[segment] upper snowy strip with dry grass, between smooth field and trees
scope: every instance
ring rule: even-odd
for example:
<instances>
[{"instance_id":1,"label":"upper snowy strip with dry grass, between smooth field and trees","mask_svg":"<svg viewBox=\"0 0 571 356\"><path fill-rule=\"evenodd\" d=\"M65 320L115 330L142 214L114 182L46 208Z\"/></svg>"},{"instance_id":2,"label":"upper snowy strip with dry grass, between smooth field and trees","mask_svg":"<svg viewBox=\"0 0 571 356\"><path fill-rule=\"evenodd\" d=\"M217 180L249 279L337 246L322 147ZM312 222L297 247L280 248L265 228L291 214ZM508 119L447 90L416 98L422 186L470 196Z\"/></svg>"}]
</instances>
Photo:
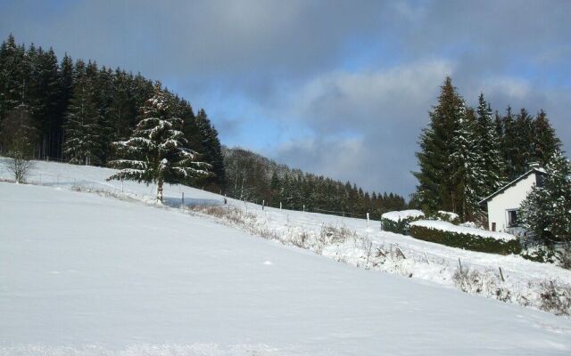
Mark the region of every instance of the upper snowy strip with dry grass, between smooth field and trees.
<instances>
[{"instance_id":1,"label":"upper snowy strip with dry grass, between smooth field and trees","mask_svg":"<svg viewBox=\"0 0 571 356\"><path fill-rule=\"evenodd\" d=\"M9 178L5 158L0 158L0 178ZM119 197L153 202L153 185L137 182L106 182L105 179L115 170L94 166L73 166L53 162L35 162L29 174L29 181L62 189L81 189L109 192ZM186 206L223 206L224 197L203 190L180 185L165 186L165 204L180 206L182 196ZM337 261L350 263L361 268L386 271L412 279L425 279L447 287L460 287L468 293L477 293L510 303L550 310L542 305L543 285L554 281L556 285L571 286L571 271L563 270L549 263L534 263L519 256L484 254L413 239L408 236L380 231L380 223L362 219L343 218L336 215L303 213L265 207L250 202L244 203L228 198L228 206L244 213L244 222L225 223L238 226L244 231L257 235L269 234L285 245L300 246L300 237L318 237L324 227L343 227L355 231L358 239L348 240L327 246L311 246L320 255ZM225 208L228 206L224 206ZM245 214L247 212L247 214ZM220 221L220 219L217 219ZM388 255L398 248L405 259L376 257L377 250ZM460 261L460 262L459 262ZM478 284L458 285L454 274L459 270L478 271ZM504 280L501 279L500 268ZM567 288L567 294L571 287ZM564 295L564 301L571 295ZM560 311L559 311L560 312ZM567 312L571 312L567 309Z\"/></svg>"}]
</instances>

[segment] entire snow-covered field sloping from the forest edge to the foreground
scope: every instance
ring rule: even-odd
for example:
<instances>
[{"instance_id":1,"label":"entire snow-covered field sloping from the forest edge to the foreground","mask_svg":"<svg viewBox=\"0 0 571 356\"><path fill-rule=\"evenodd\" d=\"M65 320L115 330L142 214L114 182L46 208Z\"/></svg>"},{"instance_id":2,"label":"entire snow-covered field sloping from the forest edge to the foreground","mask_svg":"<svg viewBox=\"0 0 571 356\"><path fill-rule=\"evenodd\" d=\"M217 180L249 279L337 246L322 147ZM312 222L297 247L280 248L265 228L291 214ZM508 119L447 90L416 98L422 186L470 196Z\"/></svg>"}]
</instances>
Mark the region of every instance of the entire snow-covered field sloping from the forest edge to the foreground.
<instances>
[{"instance_id":1,"label":"entire snow-covered field sloping from the forest edge to the foreground","mask_svg":"<svg viewBox=\"0 0 571 356\"><path fill-rule=\"evenodd\" d=\"M112 172L37 162L29 178L45 186L0 183L0 355L571 352L571 320L441 286L453 285L458 258L501 267L505 283L524 290L535 279L569 282L568 271L382 232L377 222L228 199L276 236L356 231L360 239L321 251L346 262L337 263L202 214L69 191L152 200L153 187L105 182ZM167 204L183 192L186 205L222 205L180 186L166 187ZM362 255L367 240L406 259L374 266Z\"/></svg>"}]
</instances>

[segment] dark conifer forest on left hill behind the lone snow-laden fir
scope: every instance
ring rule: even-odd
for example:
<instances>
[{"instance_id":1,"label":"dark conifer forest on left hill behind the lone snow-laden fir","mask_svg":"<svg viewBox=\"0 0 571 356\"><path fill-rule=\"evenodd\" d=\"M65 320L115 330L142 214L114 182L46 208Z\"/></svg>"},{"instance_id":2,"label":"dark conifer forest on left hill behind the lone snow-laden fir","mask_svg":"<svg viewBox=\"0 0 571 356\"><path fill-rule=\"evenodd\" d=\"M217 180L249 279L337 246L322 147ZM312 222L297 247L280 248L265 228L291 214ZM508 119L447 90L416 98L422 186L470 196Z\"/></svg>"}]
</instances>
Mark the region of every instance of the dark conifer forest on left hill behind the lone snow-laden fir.
<instances>
[{"instance_id":1,"label":"dark conifer forest on left hill behind the lone snow-laden fir","mask_svg":"<svg viewBox=\"0 0 571 356\"><path fill-rule=\"evenodd\" d=\"M194 114L188 101L163 90L170 115L184 122L188 149L200 152L212 166L215 175L201 184L222 189L218 133L205 110ZM107 165L116 158L111 143L129 137L153 93L153 81L140 74L99 67L95 61L72 61L67 54L58 61L52 48L26 48L12 35L0 46L0 124L13 110L24 108L37 131L32 142L37 159Z\"/></svg>"}]
</instances>

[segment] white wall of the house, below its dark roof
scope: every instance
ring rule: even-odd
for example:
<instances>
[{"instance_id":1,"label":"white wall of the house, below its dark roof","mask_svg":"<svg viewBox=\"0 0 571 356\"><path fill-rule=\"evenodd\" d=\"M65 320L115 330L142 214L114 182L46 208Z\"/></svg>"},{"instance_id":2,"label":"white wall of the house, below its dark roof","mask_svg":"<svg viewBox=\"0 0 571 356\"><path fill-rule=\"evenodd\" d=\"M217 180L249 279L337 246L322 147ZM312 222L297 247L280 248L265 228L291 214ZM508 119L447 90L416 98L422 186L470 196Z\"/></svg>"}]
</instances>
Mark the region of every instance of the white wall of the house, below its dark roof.
<instances>
[{"instance_id":1,"label":"white wall of the house, below its dark roof","mask_svg":"<svg viewBox=\"0 0 571 356\"><path fill-rule=\"evenodd\" d=\"M529 174L488 201L488 229L496 223L496 231L505 232L508 227L508 210L519 209L527 194L537 182L537 174Z\"/></svg>"}]
</instances>

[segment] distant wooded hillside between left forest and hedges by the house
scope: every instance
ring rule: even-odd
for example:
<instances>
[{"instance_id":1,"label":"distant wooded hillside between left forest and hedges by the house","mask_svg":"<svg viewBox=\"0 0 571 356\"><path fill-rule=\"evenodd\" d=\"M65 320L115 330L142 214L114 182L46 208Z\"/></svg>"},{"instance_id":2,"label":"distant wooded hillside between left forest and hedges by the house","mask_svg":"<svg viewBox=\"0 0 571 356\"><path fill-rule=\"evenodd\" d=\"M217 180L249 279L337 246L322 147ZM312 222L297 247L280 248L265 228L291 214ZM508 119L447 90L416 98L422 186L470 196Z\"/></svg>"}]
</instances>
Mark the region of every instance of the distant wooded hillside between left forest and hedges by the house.
<instances>
[{"instance_id":1,"label":"distant wooded hillside between left forest and hedges by the house","mask_svg":"<svg viewBox=\"0 0 571 356\"><path fill-rule=\"evenodd\" d=\"M393 193L368 193L351 182L304 173L242 149L224 149L228 196L286 209L364 217L407 207Z\"/></svg>"}]
</instances>

